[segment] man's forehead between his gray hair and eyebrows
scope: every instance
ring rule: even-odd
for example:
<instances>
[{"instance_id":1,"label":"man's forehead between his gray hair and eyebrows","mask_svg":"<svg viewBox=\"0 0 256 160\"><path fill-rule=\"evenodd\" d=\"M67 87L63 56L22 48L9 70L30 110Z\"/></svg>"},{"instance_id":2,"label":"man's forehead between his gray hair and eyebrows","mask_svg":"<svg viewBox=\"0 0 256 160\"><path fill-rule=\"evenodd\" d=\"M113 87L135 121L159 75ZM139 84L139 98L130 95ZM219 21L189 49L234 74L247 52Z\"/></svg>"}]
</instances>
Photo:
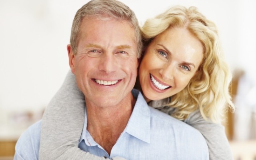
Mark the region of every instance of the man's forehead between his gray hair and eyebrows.
<instances>
[{"instance_id":1,"label":"man's forehead between his gray hair and eyebrows","mask_svg":"<svg viewBox=\"0 0 256 160\"><path fill-rule=\"evenodd\" d=\"M137 49L135 30L127 20L99 20L89 16L81 23L79 34L86 47L112 45L119 49Z\"/></svg>"}]
</instances>

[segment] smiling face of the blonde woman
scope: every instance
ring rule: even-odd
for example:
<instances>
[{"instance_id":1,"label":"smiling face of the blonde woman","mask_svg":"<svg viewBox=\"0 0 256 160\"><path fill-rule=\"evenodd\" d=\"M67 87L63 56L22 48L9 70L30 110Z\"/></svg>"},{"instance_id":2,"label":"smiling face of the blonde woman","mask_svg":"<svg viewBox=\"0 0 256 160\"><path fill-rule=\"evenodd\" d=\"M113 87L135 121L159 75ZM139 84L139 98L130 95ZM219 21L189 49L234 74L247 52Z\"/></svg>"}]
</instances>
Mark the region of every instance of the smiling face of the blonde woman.
<instances>
[{"instance_id":1,"label":"smiling face of the blonde woman","mask_svg":"<svg viewBox=\"0 0 256 160\"><path fill-rule=\"evenodd\" d=\"M186 28L169 28L146 48L139 70L144 96L170 97L186 87L203 58L201 42Z\"/></svg>"}]
</instances>

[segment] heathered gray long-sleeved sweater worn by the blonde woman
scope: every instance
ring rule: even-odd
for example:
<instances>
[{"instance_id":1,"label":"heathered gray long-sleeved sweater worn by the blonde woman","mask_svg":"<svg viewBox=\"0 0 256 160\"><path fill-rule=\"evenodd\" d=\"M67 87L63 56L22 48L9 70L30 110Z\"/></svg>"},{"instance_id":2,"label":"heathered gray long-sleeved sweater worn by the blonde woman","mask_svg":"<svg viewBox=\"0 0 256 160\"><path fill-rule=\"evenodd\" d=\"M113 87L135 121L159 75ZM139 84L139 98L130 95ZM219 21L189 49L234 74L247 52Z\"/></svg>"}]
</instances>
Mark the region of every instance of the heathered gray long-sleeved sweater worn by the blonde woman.
<instances>
[{"instance_id":1,"label":"heathered gray long-sleeved sweater worn by the blonde woman","mask_svg":"<svg viewBox=\"0 0 256 160\"><path fill-rule=\"evenodd\" d=\"M149 105L166 114L171 114L173 108L162 107L167 102L168 98L152 101ZM84 95L77 88L75 77L69 71L61 88L44 112L40 160L106 160L104 157L94 156L78 148L78 140L84 124L84 103ZM202 133L208 144L210 160L233 159L224 127L221 124L204 120L199 110L190 114L184 122ZM123 158L113 159L122 160Z\"/></svg>"}]
</instances>

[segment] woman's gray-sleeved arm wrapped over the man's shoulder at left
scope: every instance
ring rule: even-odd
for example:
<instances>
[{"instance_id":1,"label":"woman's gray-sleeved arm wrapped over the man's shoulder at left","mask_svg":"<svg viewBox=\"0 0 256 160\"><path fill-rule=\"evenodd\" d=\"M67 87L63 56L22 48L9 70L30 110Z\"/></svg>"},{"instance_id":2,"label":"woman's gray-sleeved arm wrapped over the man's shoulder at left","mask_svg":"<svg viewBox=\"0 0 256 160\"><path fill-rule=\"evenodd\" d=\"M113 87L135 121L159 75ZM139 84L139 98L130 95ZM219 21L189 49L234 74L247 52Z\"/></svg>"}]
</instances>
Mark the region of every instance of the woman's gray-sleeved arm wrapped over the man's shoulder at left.
<instances>
[{"instance_id":1,"label":"woman's gray-sleeved arm wrapped over the man's shoulder at left","mask_svg":"<svg viewBox=\"0 0 256 160\"><path fill-rule=\"evenodd\" d=\"M78 148L84 126L84 106L84 94L69 71L42 118L40 160L106 160Z\"/></svg>"}]
</instances>

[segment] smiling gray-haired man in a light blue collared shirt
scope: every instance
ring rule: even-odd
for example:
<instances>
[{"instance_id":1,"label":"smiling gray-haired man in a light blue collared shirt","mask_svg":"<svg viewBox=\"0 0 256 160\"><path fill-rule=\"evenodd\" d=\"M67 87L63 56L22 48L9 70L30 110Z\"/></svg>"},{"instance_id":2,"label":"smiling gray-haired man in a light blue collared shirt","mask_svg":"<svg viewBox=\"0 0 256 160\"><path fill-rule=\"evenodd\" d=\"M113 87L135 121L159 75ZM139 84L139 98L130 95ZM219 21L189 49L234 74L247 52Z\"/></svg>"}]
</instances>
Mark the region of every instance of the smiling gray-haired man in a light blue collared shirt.
<instances>
[{"instance_id":1,"label":"smiling gray-haired man in a light blue collared shirt","mask_svg":"<svg viewBox=\"0 0 256 160\"><path fill-rule=\"evenodd\" d=\"M76 13L67 49L86 102L79 148L106 158L208 159L198 131L132 90L141 46L136 17L121 2L93 0ZM20 137L14 159L38 159L40 128L41 121Z\"/></svg>"}]
</instances>

